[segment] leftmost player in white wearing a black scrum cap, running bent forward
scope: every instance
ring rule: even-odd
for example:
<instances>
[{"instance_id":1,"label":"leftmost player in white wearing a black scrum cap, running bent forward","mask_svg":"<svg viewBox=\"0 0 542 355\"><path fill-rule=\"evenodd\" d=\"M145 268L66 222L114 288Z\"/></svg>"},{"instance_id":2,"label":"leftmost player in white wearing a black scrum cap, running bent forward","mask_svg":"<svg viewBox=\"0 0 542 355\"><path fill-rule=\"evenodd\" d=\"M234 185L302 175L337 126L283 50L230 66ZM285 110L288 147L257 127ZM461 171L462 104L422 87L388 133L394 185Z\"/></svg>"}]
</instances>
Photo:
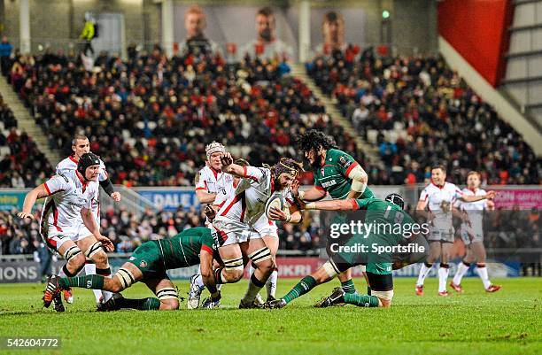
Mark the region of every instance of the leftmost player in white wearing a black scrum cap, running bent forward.
<instances>
[{"instance_id":1,"label":"leftmost player in white wearing a black scrum cap, running bent forward","mask_svg":"<svg viewBox=\"0 0 542 355\"><path fill-rule=\"evenodd\" d=\"M62 267L66 276L79 274L86 258L96 264L100 274L111 274L107 254L102 246L106 251L112 251L113 245L100 234L92 212L92 205L97 203L99 173L100 161L97 155L84 153L77 163L77 170L56 174L28 192L22 212L19 212L20 218L32 218L31 211L36 199L48 197L43 204L40 234L52 251L66 259ZM53 298L47 295L43 297L46 307L52 301ZM64 306L56 311L63 312Z\"/></svg>"}]
</instances>

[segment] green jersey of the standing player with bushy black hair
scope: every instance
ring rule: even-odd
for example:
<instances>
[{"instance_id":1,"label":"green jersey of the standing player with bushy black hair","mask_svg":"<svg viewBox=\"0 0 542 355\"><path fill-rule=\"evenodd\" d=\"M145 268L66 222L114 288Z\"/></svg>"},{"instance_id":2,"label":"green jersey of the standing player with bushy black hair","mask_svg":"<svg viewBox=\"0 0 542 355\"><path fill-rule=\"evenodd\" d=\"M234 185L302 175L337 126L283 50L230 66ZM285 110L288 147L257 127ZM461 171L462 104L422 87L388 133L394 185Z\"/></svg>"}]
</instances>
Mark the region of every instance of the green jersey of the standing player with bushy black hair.
<instances>
[{"instance_id":1,"label":"green jersey of the standing player with bushy black hair","mask_svg":"<svg viewBox=\"0 0 542 355\"><path fill-rule=\"evenodd\" d=\"M352 180L348 179L351 170L358 166L354 158L343 150L330 149L326 152L324 166L314 169L314 186L329 192L335 199L345 199L351 189ZM373 198L375 194L365 189L359 198Z\"/></svg>"}]
</instances>

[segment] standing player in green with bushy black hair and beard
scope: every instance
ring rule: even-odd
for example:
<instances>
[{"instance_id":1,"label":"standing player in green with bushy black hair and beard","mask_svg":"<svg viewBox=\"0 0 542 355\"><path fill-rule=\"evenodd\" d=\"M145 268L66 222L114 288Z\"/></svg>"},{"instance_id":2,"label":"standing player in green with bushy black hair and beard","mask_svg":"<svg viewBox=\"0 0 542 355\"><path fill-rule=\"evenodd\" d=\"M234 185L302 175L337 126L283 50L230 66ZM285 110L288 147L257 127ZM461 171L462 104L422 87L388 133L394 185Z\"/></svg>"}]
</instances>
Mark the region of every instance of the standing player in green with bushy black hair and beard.
<instances>
[{"instance_id":1,"label":"standing player in green with bushy black hair and beard","mask_svg":"<svg viewBox=\"0 0 542 355\"><path fill-rule=\"evenodd\" d=\"M292 194L303 201L318 201L329 193L334 199L372 198L375 194L368 188L368 175L360 164L349 154L337 150L332 137L311 129L298 135L298 148L308 159L314 173L314 187L306 191L292 189ZM328 238L328 252L329 243ZM343 243L345 241L341 241ZM365 266L361 267L366 281ZM352 271L343 270L338 279L346 293L355 293ZM370 290L368 290L370 292Z\"/></svg>"}]
</instances>

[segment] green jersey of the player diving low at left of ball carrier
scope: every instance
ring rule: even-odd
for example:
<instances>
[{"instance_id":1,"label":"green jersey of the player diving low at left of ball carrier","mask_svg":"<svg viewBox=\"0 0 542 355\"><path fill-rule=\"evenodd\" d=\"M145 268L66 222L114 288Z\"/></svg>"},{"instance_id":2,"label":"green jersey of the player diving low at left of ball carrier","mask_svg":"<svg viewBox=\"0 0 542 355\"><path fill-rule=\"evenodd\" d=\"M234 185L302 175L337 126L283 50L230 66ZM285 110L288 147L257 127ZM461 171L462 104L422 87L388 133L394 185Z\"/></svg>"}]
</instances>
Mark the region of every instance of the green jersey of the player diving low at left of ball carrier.
<instances>
[{"instance_id":1,"label":"green jersey of the player diving low at left of ball carrier","mask_svg":"<svg viewBox=\"0 0 542 355\"><path fill-rule=\"evenodd\" d=\"M211 229L205 227L186 229L158 242L167 270L199 264L199 253L207 251L213 255L215 245Z\"/></svg>"}]
</instances>

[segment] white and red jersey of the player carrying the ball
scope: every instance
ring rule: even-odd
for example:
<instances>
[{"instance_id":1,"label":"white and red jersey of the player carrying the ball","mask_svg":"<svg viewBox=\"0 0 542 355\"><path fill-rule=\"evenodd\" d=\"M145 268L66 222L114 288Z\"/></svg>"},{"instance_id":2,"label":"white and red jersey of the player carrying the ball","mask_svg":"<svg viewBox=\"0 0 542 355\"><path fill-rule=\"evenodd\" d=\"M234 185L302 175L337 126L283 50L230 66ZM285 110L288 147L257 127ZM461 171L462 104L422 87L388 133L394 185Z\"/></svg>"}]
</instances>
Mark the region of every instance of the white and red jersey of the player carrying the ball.
<instances>
[{"instance_id":1,"label":"white and red jersey of the player carrying the ball","mask_svg":"<svg viewBox=\"0 0 542 355\"><path fill-rule=\"evenodd\" d=\"M271 171L265 167L244 166L245 178L228 197L215 220L233 220L254 227L265 212L267 199L275 192ZM290 190L283 196L290 198Z\"/></svg>"}]
</instances>

